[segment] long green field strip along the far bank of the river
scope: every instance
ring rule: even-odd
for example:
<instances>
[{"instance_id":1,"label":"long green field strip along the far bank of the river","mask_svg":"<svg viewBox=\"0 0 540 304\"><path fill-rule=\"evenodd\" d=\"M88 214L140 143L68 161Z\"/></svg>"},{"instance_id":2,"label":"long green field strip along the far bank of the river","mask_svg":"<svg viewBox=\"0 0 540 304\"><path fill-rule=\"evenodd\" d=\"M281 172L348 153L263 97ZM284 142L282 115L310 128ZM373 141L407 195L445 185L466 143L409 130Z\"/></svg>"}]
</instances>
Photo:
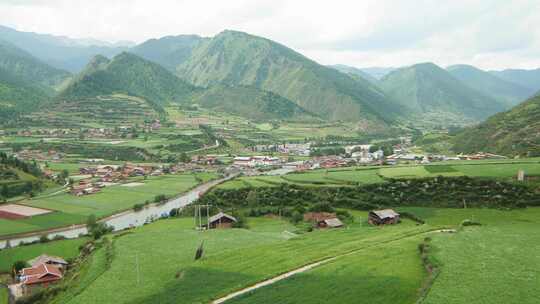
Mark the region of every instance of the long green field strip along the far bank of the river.
<instances>
[{"instance_id":1,"label":"long green field strip along the far bank of the river","mask_svg":"<svg viewBox=\"0 0 540 304\"><path fill-rule=\"evenodd\" d=\"M205 181L216 175L201 173L197 176ZM26 200L23 202L25 205L55 212L20 220L0 219L0 236L83 223L89 215L105 217L130 209L133 205L144 203L146 200L152 201L156 195L174 196L198 184L195 175L192 174L148 177L147 180L138 178L131 182L138 182L141 185L137 187L110 186L96 194L80 197L61 193Z\"/></svg>"}]
</instances>

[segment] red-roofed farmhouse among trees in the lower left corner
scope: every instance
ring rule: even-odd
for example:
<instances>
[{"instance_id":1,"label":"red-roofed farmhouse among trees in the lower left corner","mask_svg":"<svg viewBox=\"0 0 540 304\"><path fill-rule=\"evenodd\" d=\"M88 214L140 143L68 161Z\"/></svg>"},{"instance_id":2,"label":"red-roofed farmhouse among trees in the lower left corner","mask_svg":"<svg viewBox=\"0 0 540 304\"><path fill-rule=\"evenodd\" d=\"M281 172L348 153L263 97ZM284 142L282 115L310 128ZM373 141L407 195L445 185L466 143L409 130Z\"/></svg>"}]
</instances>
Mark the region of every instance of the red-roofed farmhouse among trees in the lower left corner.
<instances>
[{"instance_id":1,"label":"red-roofed farmhouse among trees in the lower left corner","mask_svg":"<svg viewBox=\"0 0 540 304\"><path fill-rule=\"evenodd\" d=\"M62 270L55 265L41 263L35 267L23 268L19 275L24 295L35 290L47 288L63 278Z\"/></svg>"}]
</instances>

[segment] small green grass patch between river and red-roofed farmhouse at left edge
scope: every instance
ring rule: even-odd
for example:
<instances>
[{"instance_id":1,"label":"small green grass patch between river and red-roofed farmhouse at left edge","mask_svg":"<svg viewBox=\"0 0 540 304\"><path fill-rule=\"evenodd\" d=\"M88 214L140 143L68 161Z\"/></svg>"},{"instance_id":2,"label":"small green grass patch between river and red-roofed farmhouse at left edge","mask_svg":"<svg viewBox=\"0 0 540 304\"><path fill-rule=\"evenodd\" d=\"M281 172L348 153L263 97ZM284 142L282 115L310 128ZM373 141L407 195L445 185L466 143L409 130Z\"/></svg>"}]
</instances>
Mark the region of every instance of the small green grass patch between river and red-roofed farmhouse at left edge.
<instances>
[{"instance_id":1,"label":"small green grass patch between river and red-roofed farmhouse at left edge","mask_svg":"<svg viewBox=\"0 0 540 304\"><path fill-rule=\"evenodd\" d=\"M64 259L74 258L79 254L79 246L86 241L88 238L78 238L2 250L0 251L0 273L10 272L11 266L16 261L28 261L41 254L60 256Z\"/></svg>"}]
</instances>

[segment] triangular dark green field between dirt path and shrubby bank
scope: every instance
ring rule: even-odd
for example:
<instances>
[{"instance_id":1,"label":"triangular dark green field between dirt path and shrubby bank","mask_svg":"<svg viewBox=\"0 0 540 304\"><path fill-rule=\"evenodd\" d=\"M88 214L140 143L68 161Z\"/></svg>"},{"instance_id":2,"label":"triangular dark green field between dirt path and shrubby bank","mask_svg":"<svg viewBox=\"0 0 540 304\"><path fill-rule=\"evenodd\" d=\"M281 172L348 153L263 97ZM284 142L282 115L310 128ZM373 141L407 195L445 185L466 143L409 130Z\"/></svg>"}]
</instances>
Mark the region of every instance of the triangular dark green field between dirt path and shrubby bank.
<instances>
[{"instance_id":1,"label":"triangular dark green field between dirt path and shrubby bank","mask_svg":"<svg viewBox=\"0 0 540 304\"><path fill-rule=\"evenodd\" d=\"M421 237L369 248L230 303L414 303L425 276Z\"/></svg>"}]
</instances>

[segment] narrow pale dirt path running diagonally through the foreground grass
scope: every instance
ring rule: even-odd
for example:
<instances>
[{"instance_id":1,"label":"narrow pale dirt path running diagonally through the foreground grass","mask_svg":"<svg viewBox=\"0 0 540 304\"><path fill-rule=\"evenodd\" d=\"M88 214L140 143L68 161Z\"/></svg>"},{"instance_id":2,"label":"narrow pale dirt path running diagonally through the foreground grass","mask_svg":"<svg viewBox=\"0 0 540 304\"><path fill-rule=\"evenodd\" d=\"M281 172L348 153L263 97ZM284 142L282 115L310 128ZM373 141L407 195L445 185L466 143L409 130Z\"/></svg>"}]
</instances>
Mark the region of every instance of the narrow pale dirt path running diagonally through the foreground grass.
<instances>
[{"instance_id":1,"label":"narrow pale dirt path running diagonally through the foreground grass","mask_svg":"<svg viewBox=\"0 0 540 304\"><path fill-rule=\"evenodd\" d=\"M448 233L453 233L455 232L454 229L437 229L437 230L428 230L428 231L423 231L423 232L419 232L419 233L414 233L414 234L411 234L411 235L406 235L406 236L403 236L403 237L400 237L400 238L396 238L396 239L390 239L390 240L387 240L387 241L383 241L383 242L380 242L380 243L377 243L377 244L373 244L373 245L369 245L369 246L366 246L366 247L363 247L363 248L359 248L359 249L355 249L353 251L350 251L350 252L346 252L346 253L343 253L343 254L340 254L340 255L336 255L336 256L333 256L333 257L329 257L329 258L326 258L326 259L323 259L323 260L320 260L320 261L317 261L317 262L314 262L314 263L311 263L311 264L307 264L305 266L302 266L300 268L296 268L296 269L293 269L291 271L288 271L288 272L285 272L283 274L280 274L278 276L275 276L271 279L268 279L268 280L265 280L265 281L261 281L255 285L252 285L250 287L246 287L244 289L240 289L238 291L235 291L233 293L230 293L224 297L221 297L219 299L216 299L216 300L213 300L211 302L211 304L221 304L221 303L225 303L226 301L229 301L233 298L236 298L238 296L241 296L243 294L246 294L246 293L249 293L255 289L259 289L261 287L265 287L265 286L268 286L268 285L272 285L276 282L279 282L279 281L282 281L282 280L285 280L287 278L290 278L296 274L299 274L299 273L303 273L303 272L306 272L306 271L309 271L313 268L316 268L316 267L319 267L323 264L327 264L329 262L332 262L334 260L337 260L339 258L342 258L342 257L346 257L346 256L349 256L349 255L353 255L353 254L356 254L360 251L363 251L363 250L366 250L366 249L369 249L369 248L372 248L372 247L376 247L376 246L380 246L380 245L383 245L383 244L388 244L388 243L393 243L393 242L397 242L397 241L401 241L401 240L404 240L404 239L407 239L407 238L410 238L410 237L415 237L415 236L418 236L418 235L422 235L422 234L427 234L427 233L445 233L445 232L448 232Z\"/></svg>"}]
</instances>

